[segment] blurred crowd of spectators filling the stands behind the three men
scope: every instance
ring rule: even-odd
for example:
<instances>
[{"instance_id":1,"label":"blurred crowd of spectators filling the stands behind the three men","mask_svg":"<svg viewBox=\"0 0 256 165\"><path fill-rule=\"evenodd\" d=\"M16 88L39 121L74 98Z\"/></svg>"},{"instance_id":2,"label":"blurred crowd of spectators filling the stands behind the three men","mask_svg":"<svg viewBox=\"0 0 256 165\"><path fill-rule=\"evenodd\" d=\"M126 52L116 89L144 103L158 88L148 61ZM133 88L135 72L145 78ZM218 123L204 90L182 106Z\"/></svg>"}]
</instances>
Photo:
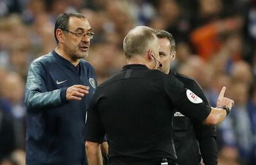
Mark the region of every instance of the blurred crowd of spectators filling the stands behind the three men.
<instances>
[{"instance_id":1,"label":"blurred crowd of spectators filling the stands behind the three men","mask_svg":"<svg viewBox=\"0 0 256 165\"><path fill-rule=\"evenodd\" d=\"M0 0L0 164L25 164L27 71L56 47L54 22L65 11L92 25L86 60L99 84L125 65L122 41L132 27L172 33L172 68L195 78L211 106L223 86L236 103L217 127L219 164L256 164L255 0Z\"/></svg>"}]
</instances>

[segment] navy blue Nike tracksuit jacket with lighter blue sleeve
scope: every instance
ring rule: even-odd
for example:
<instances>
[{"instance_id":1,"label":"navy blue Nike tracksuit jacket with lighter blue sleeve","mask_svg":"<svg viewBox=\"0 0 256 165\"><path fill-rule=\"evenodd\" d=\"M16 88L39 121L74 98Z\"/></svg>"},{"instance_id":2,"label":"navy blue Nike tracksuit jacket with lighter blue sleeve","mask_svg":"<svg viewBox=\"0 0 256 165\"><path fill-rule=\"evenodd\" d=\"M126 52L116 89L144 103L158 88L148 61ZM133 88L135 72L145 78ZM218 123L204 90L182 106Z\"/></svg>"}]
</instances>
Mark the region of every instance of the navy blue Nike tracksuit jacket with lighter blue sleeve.
<instances>
[{"instance_id":1,"label":"navy blue Nike tracksuit jacket with lighter blue sleeve","mask_svg":"<svg viewBox=\"0 0 256 165\"><path fill-rule=\"evenodd\" d=\"M90 94L67 101L67 88L76 84L90 86ZM52 51L31 63L25 93L27 165L86 164L86 108L96 87L94 70L82 59L76 67Z\"/></svg>"}]
</instances>

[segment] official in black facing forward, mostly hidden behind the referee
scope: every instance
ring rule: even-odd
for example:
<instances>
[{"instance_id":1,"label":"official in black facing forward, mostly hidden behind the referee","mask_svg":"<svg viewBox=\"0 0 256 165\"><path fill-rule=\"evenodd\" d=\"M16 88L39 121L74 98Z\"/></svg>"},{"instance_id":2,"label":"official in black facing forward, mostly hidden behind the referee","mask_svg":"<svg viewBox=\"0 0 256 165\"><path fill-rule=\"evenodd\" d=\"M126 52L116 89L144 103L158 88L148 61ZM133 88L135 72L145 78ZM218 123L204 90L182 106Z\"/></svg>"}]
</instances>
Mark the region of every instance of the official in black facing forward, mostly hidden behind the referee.
<instances>
[{"instance_id":1,"label":"official in black facing forward, mostly hidden behind the referee","mask_svg":"<svg viewBox=\"0 0 256 165\"><path fill-rule=\"evenodd\" d=\"M160 71L168 75L175 76L184 86L193 91L209 106L200 85L188 76L170 70L170 64L175 59L175 40L169 32L157 30L159 39L159 61L163 67L158 67ZM218 164L218 151L216 145L216 128L205 126L198 121L191 120L175 109L173 118L173 141L177 154L177 162L180 165L198 165L201 162L201 155L205 165ZM198 142L200 150L198 148ZM200 154L201 153L201 154Z\"/></svg>"}]
</instances>

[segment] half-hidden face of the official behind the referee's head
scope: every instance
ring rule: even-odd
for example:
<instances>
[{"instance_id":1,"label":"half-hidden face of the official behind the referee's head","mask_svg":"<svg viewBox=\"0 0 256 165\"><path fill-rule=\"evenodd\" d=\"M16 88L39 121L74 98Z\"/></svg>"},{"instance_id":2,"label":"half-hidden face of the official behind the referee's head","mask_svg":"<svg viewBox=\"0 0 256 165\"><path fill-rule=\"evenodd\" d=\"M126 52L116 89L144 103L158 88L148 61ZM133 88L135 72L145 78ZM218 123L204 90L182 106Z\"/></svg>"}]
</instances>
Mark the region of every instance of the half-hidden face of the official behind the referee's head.
<instances>
[{"instance_id":1,"label":"half-hidden face of the official behind the referee's head","mask_svg":"<svg viewBox=\"0 0 256 165\"><path fill-rule=\"evenodd\" d=\"M159 61L161 64L163 64L162 67L158 67L159 71L162 71L163 73L168 74L170 71L170 63L172 61L172 55L171 55L171 43L169 39L167 38L158 38L159 41Z\"/></svg>"}]
</instances>

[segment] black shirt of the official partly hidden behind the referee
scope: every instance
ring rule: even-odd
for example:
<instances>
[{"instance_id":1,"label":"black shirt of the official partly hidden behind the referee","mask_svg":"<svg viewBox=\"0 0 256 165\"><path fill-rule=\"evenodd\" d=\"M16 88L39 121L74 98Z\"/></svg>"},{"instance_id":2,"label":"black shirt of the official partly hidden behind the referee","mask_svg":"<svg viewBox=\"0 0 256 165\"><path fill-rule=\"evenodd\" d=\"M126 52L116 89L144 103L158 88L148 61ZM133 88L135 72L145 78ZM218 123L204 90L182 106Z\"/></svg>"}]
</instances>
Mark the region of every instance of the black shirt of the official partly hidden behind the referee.
<instances>
[{"instance_id":1,"label":"black shirt of the official partly hidden behind the referee","mask_svg":"<svg viewBox=\"0 0 256 165\"><path fill-rule=\"evenodd\" d=\"M176 73L175 71L170 71L169 75L172 75L170 78L175 76L175 78L184 84L184 87L193 91L205 104L209 105L202 88L195 80L180 73ZM175 110L173 118L173 141L179 165L200 164L200 152L205 164L218 164L218 152L215 138L215 126L205 126L202 123L185 117L179 112L179 109ZM200 152L197 141L199 141Z\"/></svg>"}]
</instances>

